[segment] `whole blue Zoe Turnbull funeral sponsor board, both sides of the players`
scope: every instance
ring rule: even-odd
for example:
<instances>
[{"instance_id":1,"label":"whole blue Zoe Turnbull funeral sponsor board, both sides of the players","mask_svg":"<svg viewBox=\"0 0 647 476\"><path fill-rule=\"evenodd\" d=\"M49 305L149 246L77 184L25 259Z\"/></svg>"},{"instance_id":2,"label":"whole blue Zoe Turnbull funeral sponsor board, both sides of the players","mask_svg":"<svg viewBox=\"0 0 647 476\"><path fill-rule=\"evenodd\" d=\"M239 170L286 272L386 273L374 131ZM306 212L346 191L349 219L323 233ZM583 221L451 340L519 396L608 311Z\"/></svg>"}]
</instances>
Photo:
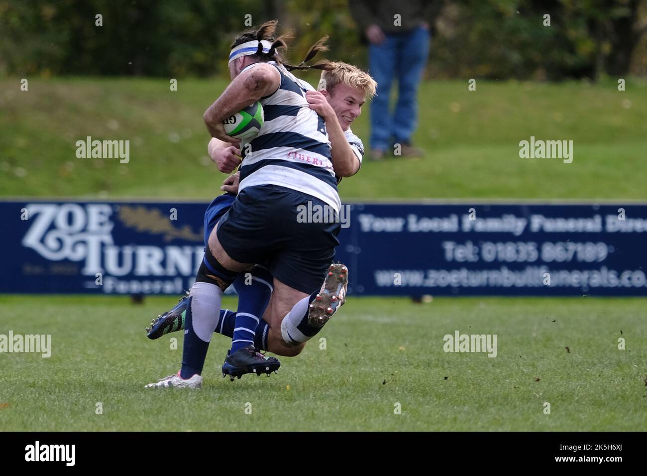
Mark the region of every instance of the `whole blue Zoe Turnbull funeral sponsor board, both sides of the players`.
<instances>
[{"instance_id":1,"label":"whole blue Zoe Turnbull funeral sponsor board, both sides of the players","mask_svg":"<svg viewBox=\"0 0 647 476\"><path fill-rule=\"evenodd\" d=\"M0 292L182 293L203 256L206 206L0 202ZM344 207L349 293L647 295L647 205Z\"/></svg>"}]
</instances>

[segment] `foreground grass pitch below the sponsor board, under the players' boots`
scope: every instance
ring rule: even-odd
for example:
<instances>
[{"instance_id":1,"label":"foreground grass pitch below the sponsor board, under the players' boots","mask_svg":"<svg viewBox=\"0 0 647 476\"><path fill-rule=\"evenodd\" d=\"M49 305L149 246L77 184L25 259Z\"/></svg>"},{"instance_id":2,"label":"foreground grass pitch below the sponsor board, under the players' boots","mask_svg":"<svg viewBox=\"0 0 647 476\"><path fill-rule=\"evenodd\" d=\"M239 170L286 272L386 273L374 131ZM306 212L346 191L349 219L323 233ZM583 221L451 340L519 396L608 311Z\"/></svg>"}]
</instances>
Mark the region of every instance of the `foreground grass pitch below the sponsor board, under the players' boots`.
<instances>
[{"instance_id":1,"label":"foreground grass pitch below the sponsor board, under the players' boots","mask_svg":"<svg viewBox=\"0 0 647 476\"><path fill-rule=\"evenodd\" d=\"M201 391L144 389L179 367L143 327L149 297L0 296L0 334L52 334L52 356L0 354L0 429L639 431L647 425L646 299L349 299L278 375L221 378L214 336ZM227 299L226 306L234 306ZM497 334L498 356L443 352ZM617 339L626 339L626 350ZM570 352L565 349L569 348ZM540 379L536 381L536 379ZM289 385L289 389L287 388ZM96 403L103 414L95 414ZM402 414L394 414L394 405ZM543 414L543 403L551 414ZM245 414L251 403L252 414Z\"/></svg>"}]
</instances>

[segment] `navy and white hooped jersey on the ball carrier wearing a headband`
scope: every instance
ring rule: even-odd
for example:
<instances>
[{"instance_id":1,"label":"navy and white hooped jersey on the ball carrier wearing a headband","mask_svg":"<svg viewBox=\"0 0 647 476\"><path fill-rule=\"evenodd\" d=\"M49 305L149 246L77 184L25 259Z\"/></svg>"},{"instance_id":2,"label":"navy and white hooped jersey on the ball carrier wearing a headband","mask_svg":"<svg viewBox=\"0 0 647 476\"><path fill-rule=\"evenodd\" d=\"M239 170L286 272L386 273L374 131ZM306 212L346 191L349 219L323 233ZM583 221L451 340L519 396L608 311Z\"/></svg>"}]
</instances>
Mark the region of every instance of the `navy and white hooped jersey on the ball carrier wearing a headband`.
<instances>
[{"instance_id":1,"label":"navy and white hooped jersey on the ball carrier wearing a headband","mask_svg":"<svg viewBox=\"0 0 647 476\"><path fill-rule=\"evenodd\" d=\"M265 121L250 141L247 155L247 147L241 144L243 163L238 190L279 185L321 199L339 212L341 201L325 122L305 99L305 92L314 88L276 62L267 64L278 69L281 84L276 92L260 100ZM258 65L252 63L243 71Z\"/></svg>"}]
</instances>

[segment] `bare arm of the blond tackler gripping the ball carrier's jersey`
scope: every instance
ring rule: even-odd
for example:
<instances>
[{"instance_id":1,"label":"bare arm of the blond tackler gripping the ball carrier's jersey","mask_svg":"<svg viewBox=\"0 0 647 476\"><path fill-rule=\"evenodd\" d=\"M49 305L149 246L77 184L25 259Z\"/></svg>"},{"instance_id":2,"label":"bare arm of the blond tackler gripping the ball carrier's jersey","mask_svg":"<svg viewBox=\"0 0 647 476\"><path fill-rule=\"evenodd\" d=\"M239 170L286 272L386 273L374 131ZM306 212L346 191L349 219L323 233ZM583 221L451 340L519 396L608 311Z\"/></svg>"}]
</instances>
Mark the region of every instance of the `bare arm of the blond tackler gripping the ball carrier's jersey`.
<instances>
[{"instance_id":1,"label":"bare arm of the blond tackler gripping the ball carrier's jersey","mask_svg":"<svg viewBox=\"0 0 647 476\"><path fill-rule=\"evenodd\" d=\"M325 96L318 91L308 91L305 98L318 115L325 120L325 128L328 131L328 138L333 146L333 168L334 173L340 177L354 176L360 170L360 160L353 152L351 144L346 140L344 130L337 120L334 109Z\"/></svg>"}]
</instances>

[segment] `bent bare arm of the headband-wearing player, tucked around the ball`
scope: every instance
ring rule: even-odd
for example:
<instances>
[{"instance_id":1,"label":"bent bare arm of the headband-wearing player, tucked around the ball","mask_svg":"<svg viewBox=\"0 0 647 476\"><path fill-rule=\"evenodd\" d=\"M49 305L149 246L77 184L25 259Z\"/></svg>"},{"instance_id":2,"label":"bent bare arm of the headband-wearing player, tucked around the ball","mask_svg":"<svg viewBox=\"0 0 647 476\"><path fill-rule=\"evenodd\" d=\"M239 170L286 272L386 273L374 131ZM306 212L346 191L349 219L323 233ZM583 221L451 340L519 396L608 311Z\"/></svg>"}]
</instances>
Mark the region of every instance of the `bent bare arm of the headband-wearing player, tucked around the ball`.
<instances>
[{"instance_id":1,"label":"bent bare arm of the headband-wearing player, tucked around the ball","mask_svg":"<svg viewBox=\"0 0 647 476\"><path fill-rule=\"evenodd\" d=\"M225 134L223 120L254 104L260 98L272 95L280 84L281 74L274 66L265 63L256 63L254 67L236 76L225 92L204 113L204 124L211 137L239 144L238 139Z\"/></svg>"}]
</instances>

